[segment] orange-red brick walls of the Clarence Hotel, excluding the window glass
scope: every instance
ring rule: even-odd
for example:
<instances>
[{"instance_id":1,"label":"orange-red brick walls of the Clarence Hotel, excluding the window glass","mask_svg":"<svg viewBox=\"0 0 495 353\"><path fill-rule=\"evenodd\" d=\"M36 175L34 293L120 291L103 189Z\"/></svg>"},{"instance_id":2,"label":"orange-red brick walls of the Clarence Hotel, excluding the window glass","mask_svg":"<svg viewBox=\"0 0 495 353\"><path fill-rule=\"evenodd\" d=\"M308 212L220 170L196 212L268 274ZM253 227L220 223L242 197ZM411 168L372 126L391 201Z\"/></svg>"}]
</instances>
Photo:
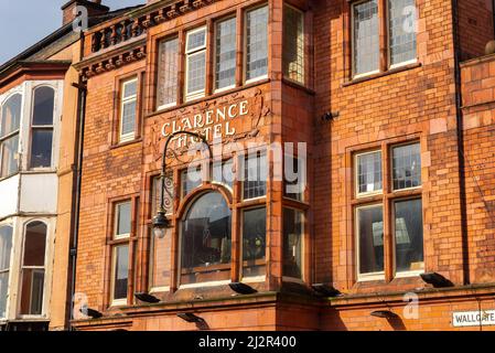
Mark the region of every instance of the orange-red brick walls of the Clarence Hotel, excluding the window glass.
<instances>
[{"instance_id":1,"label":"orange-red brick walls of the Clarence Hotel, excluding the window glass","mask_svg":"<svg viewBox=\"0 0 495 353\"><path fill-rule=\"evenodd\" d=\"M79 318L73 321L77 329L195 329L193 323L176 317L185 311L205 320L207 328L197 329L212 330L453 330L453 312L494 309L488 299L495 288L495 199L492 195L495 158L491 152L495 95L493 57L462 63L461 82L456 82L455 75L456 50L461 58L480 56L484 44L493 38L491 2L458 1L456 46L452 2L416 0L417 61L390 69L380 62L379 73L355 79L351 69L349 3L345 0L288 2L305 13L304 85L283 77L283 3L270 0L268 77L243 85L239 74L243 53L238 51L235 88L215 94L211 83L213 73L207 68L205 98L184 103L177 94L177 106L161 111L154 108L158 40L179 33L183 46L184 31L202 24L212 31L214 20L234 13L241 19L243 11L263 2L148 1L148 7L132 11L128 18L107 21L86 34L85 60L77 66L87 78L88 95L76 292L83 293L87 306L103 312L104 317ZM384 3L380 1L381 6ZM480 11L474 11L475 7ZM110 29L110 38L116 38L119 23L130 23L138 35L122 43L111 40L111 45L98 36ZM142 34L139 25L146 29ZM238 29L243 29L240 23ZM241 40L239 38L238 42ZM386 39L380 41L385 43ZM100 47L101 44L105 47ZM209 63L213 60L211 49L207 49L207 57ZM181 85L183 65L179 66L177 83ZM120 84L131 76L139 78L137 137L119 145L116 143L116 121ZM462 95L462 109L456 106L458 93ZM205 114L208 108L243 100L248 101L249 113L244 119L232 120L230 127L236 129L234 141L308 143L304 203L284 199L282 182L270 174L262 201L267 207L267 276L265 281L252 285L258 293L233 297L226 285L181 288L177 286L179 260L171 260L169 290L153 293L160 303L144 306L133 293L150 289L151 179L160 170L165 142L161 129L184 117ZM329 116L332 119L322 118ZM458 126L459 116L462 116L462 128ZM226 129L225 124L222 128ZM463 132L461 138L460 131ZM452 281L450 288L432 288L419 276L396 277L390 248L385 249L385 280L359 281L356 275L355 207L362 201L353 196L354 156L379 148L389 159L391 146L410 141L420 146L421 188L398 194L390 191L369 199L367 204L386 200L384 218L390 224L394 200L421 199L424 271L441 274ZM461 142L465 156L460 154ZM186 164L175 159L168 159L168 162L175 190L179 190L180 171ZM271 159L269 165L273 172L276 161ZM387 171L385 175L388 174ZM190 202L207 190L226 195L233 212L233 254L238 258L240 208L245 205L236 199L240 184L234 188L237 191L230 195L225 188L206 183L184 200L175 195L173 227L168 235L171 236L168 249L171 259L180 253L179 226ZM128 304L112 307L112 204L126 199L132 199L137 210L129 240L136 259L129 265L133 280L128 285ZM289 282L282 276L284 206L301 207L305 213L304 275L300 284ZM389 227L384 229L387 242L392 237ZM230 269L234 281L239 279L236 266ZM315 297L310 286L322 282L332 285L343 296ZM403 297L408 292L415 292L417 297L413 298L419 300L419 317L408 314L410 306ZM397 315L392 319L372 317L370 312L376 310L391 310ZM127 315L121 318L121 313ZM489 328L493 327L486 329Z\"/></svg>"}]
</instances>

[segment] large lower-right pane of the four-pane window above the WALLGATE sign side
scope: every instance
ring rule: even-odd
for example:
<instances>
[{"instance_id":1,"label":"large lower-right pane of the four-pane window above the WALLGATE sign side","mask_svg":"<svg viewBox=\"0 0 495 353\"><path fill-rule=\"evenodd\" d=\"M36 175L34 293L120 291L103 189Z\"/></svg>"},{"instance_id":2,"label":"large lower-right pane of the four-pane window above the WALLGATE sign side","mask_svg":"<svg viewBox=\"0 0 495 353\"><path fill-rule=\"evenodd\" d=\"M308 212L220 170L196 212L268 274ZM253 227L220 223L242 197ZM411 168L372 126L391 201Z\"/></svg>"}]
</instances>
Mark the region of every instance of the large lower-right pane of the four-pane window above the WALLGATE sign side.
<instances>
[{"instance_id":1,"label":"large lower-right pane of the four-pane window above the WALLGATE sign side","mask_svg":"<svg viewBox=\"0 0 495 353\"><path fill-rule=\"evenodd\" d=\"M395 218L397 272L422 270L424 263L421 200L396 202Z\"/></svg>"}]
</instances>

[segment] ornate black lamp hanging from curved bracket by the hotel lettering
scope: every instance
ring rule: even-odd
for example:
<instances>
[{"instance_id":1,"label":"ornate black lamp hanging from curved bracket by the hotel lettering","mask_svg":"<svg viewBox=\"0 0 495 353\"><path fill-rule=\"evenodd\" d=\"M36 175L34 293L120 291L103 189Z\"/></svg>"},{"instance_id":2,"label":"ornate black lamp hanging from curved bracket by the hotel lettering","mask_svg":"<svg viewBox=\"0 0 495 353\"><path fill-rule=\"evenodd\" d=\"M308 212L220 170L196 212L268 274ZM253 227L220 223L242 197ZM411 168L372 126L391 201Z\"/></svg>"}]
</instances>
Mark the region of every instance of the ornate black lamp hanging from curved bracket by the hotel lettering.
<instances>
[{"instance_id":1,"label":"ornate black lamp hanging from curved bracket by the hotel lettering","mask_svg":"<svg viewBox=\"0 0 495 353\"><path fill-rule=\"evenodd\" d=\"M162 172L160 174L160 206L158 208L157 215L153 217L152 226L153 226L153 234L158 238L163 238L165 236L166 228L170 228L172 225L170 223L170 220L165 216L165 172L166 172L166 150L169 149L169 143L172 141L174 137L177 135L189 135L193 138L196 138L201 140L202 143L206 145L208 148L209 157L212 157L212 150L209 149L209 145L206 141L206 138L203 135L191 132L191 131L175 131L174 133L171 133L166 141L165 147L163 148L163 156L162 156Z\"/></svg>"}]
</instances>

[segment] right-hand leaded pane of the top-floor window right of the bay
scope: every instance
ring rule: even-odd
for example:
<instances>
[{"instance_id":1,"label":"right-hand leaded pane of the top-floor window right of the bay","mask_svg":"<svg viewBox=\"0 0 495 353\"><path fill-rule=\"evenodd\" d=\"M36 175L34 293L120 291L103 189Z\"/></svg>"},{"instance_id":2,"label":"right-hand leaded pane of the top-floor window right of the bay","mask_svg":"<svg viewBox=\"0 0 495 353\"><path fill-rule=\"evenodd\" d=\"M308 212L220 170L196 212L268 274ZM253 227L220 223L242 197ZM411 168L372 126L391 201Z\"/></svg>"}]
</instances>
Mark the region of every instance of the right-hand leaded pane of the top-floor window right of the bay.
<instances>
[{"instance_id":1,"label":"right-hand leaded pane of the top-floor window right of the bay","mask_svg":"<svg viewBox=\"0 0 495 353\"><path fill-rule=\"evenodd\" d=\"M415 0L389 0L390 64L416 58Z\"/></svg>"}]
</instances>

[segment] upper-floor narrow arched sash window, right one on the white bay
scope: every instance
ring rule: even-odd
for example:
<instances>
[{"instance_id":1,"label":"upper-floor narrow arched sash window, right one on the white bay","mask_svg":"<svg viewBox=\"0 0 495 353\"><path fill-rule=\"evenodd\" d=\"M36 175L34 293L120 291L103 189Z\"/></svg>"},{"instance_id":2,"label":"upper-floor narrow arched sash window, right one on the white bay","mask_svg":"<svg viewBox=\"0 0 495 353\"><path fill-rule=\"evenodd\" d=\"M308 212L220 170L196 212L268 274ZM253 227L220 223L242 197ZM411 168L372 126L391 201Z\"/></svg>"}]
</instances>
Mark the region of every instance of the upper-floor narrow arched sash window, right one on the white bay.
<instances>
[{"instance_id":1,"label":"upper-floor narrow arched sash window, right one on the white bay","mask_svg":"<svg viewBox=\"0 0 495 353\"><path fill-rule=\"evenodd\" d=\"M34 89L33 106L30 168L50 168L52 167L55 90L46 86Z\"/></svg>"}]
</instances>

